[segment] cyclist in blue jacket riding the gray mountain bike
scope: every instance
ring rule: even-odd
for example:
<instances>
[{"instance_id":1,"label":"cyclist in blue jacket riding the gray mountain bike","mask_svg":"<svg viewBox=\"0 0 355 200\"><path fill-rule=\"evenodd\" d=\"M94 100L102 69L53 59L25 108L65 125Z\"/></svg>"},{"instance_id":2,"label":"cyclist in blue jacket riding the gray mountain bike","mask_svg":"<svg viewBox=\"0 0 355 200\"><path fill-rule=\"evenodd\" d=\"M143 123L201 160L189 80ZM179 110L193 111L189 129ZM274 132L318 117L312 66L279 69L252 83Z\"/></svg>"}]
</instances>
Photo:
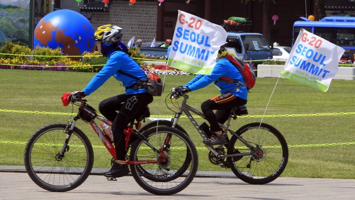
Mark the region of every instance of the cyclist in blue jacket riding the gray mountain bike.
<instances>
[{"instance_id":1,"label":"cyclist in blue jacket riding the gray mountain bike","mask_svg":"<svg viewBox=\"0 0 355 200\"><path fill-rule=\"evenodd\" d=\"M224 45L222 45L219 53L224 50ZM220 81L221 78L231 81ZM182 95L188 91L205 87L212 82L219 88L220 95L213 96L201 104L201 111L209 122L213 134L202 142L207 145L226 144L228 142L226 133L219 127L218 122L224 123L232 107L245 105L247 101L248 91L238 69L227 58L217 59L210 74L196 75L183 87L178 87L177 91ZM216 110L215 113L213 110Z\"/></svg>"}]
</instances>

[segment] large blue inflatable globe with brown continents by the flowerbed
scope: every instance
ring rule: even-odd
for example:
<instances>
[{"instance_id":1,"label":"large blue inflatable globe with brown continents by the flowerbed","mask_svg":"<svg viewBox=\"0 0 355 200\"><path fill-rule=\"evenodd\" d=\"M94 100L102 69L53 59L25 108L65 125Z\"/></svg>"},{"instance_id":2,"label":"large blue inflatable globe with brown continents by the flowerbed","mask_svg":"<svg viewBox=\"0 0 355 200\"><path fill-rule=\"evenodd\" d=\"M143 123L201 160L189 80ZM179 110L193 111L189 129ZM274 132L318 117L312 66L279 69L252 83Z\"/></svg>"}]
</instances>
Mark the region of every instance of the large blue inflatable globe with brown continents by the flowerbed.
<instances>
[{"instance_id":1,"label":"large blue inflatable globe with brown continents by the flowerbed","mask_svg":"<svg viewBox=\"0 0 355 200\"><path fill-rule=\"evenodd\" d=\"M37 46L55 49L60 47L64 55L81 55L92 52L95 40L90 21L82 14L59 9L46 14L34 29L34 48Z\"/></svg>"}]
</instances>

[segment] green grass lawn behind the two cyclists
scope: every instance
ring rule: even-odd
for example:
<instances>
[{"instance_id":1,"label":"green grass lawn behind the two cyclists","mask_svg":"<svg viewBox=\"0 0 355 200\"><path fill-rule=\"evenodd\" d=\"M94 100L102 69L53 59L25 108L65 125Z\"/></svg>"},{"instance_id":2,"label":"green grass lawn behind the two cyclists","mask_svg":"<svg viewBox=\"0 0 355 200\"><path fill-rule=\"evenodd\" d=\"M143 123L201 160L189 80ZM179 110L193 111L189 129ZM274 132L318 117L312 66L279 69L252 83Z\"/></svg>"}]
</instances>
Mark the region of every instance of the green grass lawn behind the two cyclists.
<instances>
[{"instance_id":1,"label":"green grass lawn behind the two cyclists","mask_svg":"<svg viewBox=\"0 0 355 200\"><path fill-rule=\"evenodd\" d=\"M23 165L23 150L30 135L47 123L69 119L66 113L72 108L62 106L61 95L83 89L94 74L0 69L0 165ZM192 77L166 75L164 94L154 97L149 105L151 114L172 115L164 97L171 87L183 85ZM248 95L249 115L232 121L233 128L261 120L276 81L277 78L256 79ZM86 99L97 108L102 99L123 91L112 77ZM189 93L188 103L199 108L203 100L217 94L210 84ZM355 178L354 94L352 80L332 80L327 92L283 78L278 81L262 120L276 127L289 145L288 164L281 176ZM208 161L208 151L187 119L181 118L179 124L198 148L199 170L228 170ZM77 126L89 136L92 145L102 145L87 124L80 121ZM94 148L94 155L94 167L109 167L110 156L104 148Z\"/></svg>"}]
</instances>

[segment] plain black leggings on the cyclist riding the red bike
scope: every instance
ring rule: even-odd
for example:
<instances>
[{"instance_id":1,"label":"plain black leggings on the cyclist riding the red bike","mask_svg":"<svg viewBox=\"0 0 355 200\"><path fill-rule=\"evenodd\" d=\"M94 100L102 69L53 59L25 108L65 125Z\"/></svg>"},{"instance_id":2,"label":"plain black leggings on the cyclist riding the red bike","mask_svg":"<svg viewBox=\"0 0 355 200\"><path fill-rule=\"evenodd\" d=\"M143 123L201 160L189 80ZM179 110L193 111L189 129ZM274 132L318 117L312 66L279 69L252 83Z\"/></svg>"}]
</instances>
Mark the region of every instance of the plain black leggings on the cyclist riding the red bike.
<instances>
[{"instance_id":1,"label":"plain black leggings on the cyclist riding the red bike","mask_svg":"<svg viewBox=\"0 0 355 200\"><path fill-rule=\"evenodd\" d=\"M102 100L98 105L101 114L113 122L112 134L116 159L125 160L125 134L123 130L152 101L153 96L144 92L138 94L119 94Z\"/></svg>"}]
</instances>

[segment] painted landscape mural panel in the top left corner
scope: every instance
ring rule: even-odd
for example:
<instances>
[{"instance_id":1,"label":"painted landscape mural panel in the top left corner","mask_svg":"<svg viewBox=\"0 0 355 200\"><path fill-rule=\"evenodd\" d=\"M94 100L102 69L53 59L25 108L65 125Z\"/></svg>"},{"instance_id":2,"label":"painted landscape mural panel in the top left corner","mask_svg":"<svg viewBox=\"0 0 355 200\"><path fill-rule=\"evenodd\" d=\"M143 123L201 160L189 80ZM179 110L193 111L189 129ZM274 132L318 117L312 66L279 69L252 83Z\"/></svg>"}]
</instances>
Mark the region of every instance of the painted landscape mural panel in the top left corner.
<instances>
[{"instance_id":1,"label":"painted landscape mural panel in the top left corner","mask_svg":"<svg viewBox=\"0 0 355 200\"><path fill-rule=\"evenodd\" d=\"M31 47L30 2L32 0L0 1L0 45L10 40Z\"/></svg>"}]
</instances>

